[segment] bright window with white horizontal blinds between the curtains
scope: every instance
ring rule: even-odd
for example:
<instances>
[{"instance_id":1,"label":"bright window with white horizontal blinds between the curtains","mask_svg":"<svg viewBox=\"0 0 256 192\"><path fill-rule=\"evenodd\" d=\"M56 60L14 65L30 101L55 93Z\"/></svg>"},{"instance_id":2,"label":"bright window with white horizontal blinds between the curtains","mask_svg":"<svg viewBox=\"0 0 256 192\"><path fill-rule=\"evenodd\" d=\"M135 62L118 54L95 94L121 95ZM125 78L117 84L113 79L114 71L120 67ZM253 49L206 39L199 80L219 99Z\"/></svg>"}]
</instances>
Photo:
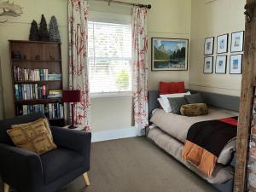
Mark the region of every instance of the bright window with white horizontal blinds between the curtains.
<instances>
[{"instance_id":1,"label":"bright window with white horizontal blinds between the curtains","mask_svg":"<svg viewBox=\"0 0 256 192\"><path fill-rule=\"evenodd\" d=\"M89 21L91 93L131 91L131 24Z\"/></svg>"}]
</instances>

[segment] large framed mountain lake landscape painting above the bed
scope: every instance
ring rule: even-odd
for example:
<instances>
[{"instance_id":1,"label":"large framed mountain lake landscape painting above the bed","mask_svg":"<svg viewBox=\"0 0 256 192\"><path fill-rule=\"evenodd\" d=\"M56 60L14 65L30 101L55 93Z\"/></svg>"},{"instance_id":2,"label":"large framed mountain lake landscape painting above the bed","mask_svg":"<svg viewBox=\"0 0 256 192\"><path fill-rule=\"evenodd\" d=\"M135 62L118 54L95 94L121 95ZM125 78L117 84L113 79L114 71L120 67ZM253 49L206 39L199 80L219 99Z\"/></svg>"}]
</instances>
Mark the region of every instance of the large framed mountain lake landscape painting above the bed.
<instances>
[{"instance_id":1,"label":"large framed mountain lake landscape painting above the bed","mask_svg":"<svg viewBox=\"0 0 256 192\"><path fill-rule=\"evenodd\" d=\"M152 71L188 70L189 39L152 38Z\"/></svg>"}]
</instances>

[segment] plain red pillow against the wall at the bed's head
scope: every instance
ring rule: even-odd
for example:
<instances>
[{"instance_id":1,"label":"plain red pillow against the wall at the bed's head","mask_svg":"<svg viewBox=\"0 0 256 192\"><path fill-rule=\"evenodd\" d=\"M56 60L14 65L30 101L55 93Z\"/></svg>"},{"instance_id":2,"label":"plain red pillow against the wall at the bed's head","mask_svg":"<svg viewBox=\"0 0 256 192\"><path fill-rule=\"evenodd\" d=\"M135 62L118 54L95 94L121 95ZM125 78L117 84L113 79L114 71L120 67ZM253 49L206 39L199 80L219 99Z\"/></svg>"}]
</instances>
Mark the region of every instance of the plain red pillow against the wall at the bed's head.
<instances>
[{"instance_id":1,"label":"plain red pillow against the wall at the bed's head","mask_svg":"<svg viewBox=\"0 0 256 192\"><path fill-rule=\"evenodd\" d=\"M184 82L160 82L159 84L160 95L172 94L172 93L183 93L185 92Z\"/></svg>"}]
</instances>

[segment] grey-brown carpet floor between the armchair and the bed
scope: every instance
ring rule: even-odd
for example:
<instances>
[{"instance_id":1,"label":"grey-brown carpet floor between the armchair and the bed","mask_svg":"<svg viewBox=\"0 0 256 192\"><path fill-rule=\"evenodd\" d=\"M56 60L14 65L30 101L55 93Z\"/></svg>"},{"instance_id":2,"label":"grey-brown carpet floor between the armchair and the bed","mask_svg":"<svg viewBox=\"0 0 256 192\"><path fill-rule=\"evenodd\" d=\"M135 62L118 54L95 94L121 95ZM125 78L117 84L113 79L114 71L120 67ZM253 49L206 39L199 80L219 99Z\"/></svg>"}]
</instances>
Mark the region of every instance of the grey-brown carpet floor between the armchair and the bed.
<instances>
[{"instance_id":1,"label":"grey-brown carpet floor between the armchair and the bed","mask_svg":"<svg viewBox=\"0 0 256 192\"><path fill-rule=\"evenodd\" d=\"M90 186L79 177L60 192L218 191L145 137L93 143L90 162Z\"/></svg>"}]
</instances>

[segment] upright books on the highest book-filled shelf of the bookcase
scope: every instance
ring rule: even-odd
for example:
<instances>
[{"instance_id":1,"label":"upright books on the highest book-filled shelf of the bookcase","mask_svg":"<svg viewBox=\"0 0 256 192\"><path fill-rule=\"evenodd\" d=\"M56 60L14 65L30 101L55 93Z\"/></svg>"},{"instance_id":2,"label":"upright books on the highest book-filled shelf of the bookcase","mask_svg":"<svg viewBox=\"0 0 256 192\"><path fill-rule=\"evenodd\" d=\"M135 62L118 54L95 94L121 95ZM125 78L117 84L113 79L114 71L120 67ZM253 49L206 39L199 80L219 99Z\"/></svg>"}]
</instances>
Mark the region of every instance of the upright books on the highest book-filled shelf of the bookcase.
<instances>
[{"instance_id":1,"label":"upright books on the highest book-filled shelf of the bookcase","mask_svg":"<svg viewBox=\"0 0 256 192\"><path fill-rule=\"evenodd\" d=\"M48 80L48 69L29 69L14 67L15 81L44 81Z\"/></svg>"}]
</instances>

